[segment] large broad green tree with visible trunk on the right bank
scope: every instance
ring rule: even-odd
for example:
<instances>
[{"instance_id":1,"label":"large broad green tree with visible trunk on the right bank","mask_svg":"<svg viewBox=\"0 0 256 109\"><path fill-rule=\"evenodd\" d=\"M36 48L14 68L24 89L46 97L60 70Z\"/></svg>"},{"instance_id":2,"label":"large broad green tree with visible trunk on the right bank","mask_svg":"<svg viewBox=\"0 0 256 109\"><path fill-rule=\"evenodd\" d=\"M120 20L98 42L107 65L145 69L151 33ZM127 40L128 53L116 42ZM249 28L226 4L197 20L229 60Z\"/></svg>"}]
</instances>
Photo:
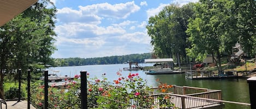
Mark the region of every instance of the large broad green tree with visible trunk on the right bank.
<instances>
[{"instance_id":1,"label":"large broad green tree with visible trunk on the right bank","mask_svg":"<svg viewBox=\"0 0 256 109\"><path fill-rule=\"evenodd\" d=\"M201 0L195 5L196 16L189 20L187 34L191 48L190 56L203 59L206 54L217 54L218 70L221 72L221 53L237 41L234 31L234 2L228 0Z\"/></svg>"}]
</instances>

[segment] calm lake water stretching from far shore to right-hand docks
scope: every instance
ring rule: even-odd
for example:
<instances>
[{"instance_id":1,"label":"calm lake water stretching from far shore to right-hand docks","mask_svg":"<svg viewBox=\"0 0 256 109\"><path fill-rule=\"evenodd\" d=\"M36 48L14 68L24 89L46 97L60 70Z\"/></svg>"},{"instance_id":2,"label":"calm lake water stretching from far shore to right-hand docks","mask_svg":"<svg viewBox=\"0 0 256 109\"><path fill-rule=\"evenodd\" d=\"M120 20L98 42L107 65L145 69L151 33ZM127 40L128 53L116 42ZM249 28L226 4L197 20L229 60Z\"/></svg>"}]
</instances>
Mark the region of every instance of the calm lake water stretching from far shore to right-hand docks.
<instances>
[{"instance_id":1,"label":"calm lake water stretching from far shore to right-hand docks","mask_svg":"<svg viewBox=\"0 0 256 109\"><path fill-rule=\"evenodd\" d=\"M128 67L128 64L120 65L92 65L92 66L74 66L74 67L53 67L51 70L59 70L61 75L74 76L75 74L80 75L81 70L86 70L90 73L91 78L97 76L100 78L102 74L106 73L106 78L111 82L118 79L116 72L123 67ZM140 66L152 66L149 64L140 64ZM123 76L127 76L128 73L139 73L141 78L147 80L149 86L156 87L156 79L160 82L167 83L169 85L178 86L191 86L191 87L202 87L209 89L222 90L223 100L246 102L249 103L249 88L246 79L216 79L216 80L189 80L185 78L184 74L161 74L161 75L147 75L142 70L135 71L122 71ZM236 105L225 103L225 108L234 109L248 109L250 106Z\"/></svg>"}]
</instances>

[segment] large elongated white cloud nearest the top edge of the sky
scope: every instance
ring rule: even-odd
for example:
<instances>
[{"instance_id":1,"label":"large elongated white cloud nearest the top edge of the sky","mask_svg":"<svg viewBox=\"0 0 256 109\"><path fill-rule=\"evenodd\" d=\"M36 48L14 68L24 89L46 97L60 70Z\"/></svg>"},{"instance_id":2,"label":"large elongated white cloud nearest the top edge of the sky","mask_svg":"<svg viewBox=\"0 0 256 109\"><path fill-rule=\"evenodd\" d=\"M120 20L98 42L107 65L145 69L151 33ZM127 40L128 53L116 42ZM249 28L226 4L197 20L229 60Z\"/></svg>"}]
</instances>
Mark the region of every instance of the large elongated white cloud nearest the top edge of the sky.
<instances>
[{"instance_id":1,"label":"large elongated white cloud nearest the top edge of the sky","mask_svg":"<svg viewBox=\"0 0 256 109\"><path fill-rule=\"evenodd\" d=\"M133 2L120 3L111 5L109 3L100 3L88 5L85 7L79 6L82 14L95 14L103 17L127 18L133 12L140 9L138 5Z\"/></svg>"}]
</instances>

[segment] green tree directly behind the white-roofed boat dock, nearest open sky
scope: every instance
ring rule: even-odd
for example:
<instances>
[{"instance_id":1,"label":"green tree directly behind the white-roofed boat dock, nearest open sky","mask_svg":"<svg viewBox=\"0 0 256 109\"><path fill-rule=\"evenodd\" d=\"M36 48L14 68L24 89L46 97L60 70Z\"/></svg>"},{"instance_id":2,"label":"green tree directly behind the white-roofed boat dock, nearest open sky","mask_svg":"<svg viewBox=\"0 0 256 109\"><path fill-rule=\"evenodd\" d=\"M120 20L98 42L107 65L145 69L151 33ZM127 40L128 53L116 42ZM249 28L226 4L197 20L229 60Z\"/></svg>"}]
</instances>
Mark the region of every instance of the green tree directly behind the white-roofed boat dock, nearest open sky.
<instances>
[{"instance_id":1,"label":"green tree directly behind the white-roofed boat dock, nearest open sky","mask_svg":"<svg viewBox=\"0 0 256 109\"><path fill-rule=\"evenodd\" d=\"M147 33L151 37L154 52L159 57L172 57L181 65L181 56L186 59L188 18L193 15L193 3L179 7L177 4L166 6L158 15L150 17Z\"/></svg>"}]
</instances>

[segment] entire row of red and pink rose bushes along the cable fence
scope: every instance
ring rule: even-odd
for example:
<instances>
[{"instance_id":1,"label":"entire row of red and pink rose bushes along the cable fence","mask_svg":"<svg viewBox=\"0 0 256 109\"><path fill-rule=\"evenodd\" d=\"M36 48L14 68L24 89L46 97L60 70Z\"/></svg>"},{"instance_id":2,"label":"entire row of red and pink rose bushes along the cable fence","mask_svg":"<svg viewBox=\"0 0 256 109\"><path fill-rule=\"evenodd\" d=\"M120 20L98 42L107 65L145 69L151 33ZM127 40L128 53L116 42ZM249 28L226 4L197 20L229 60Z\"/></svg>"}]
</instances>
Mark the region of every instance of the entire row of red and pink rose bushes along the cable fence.
<instances>
[{"instance_id":1,"label":"entire row of red and pink rose bushes along the cable fence","mask_svg":"<svg viewBox=\"0 0 256 109\"><path fill-rule=\"evenodd\" d=\"M87 106L88 108L160 108L172 107L168 102L168 95L160 95L157 103L156 99L150 95L150 87L146 81L140 78L138 73L122 75L122 70L117 73L118 78L108 81L105 73L102 78L90 78L87 74ZM75 75L73 81L66 81L61 87L55 84L48 88L49 107L48 108L81 108L80 98L80 75ZM159 91L166 93L165 88L170 85L160 84ZM35 108L44 108L44 86L38 83L32 85L32 104Z\"/></svg>"}]
</instances>

